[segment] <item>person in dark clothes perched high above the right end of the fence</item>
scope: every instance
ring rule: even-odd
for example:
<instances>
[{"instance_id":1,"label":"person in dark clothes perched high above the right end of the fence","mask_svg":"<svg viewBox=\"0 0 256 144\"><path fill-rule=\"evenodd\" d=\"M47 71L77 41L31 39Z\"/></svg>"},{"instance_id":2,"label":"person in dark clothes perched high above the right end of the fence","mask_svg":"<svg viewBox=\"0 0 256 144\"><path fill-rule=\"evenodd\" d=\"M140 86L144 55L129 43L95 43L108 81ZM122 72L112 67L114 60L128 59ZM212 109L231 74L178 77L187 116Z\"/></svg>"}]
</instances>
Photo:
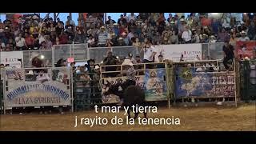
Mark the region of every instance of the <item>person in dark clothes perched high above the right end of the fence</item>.
<instances>
[{"instance_id":1,"label":"person in dark clothes perched high above the right end of the fence","mask_svg":"<svg viewBox=\"0 0 256 144\"><path fill-rule=\"evenodd\" d=\"M233 62L234 59L234 47L229 44L229 41L225 41L223 46L224 59L223 64L226 70L231 70L232 67L228 66L228 62L231 60Z\"/></svg>"}]
</instances>

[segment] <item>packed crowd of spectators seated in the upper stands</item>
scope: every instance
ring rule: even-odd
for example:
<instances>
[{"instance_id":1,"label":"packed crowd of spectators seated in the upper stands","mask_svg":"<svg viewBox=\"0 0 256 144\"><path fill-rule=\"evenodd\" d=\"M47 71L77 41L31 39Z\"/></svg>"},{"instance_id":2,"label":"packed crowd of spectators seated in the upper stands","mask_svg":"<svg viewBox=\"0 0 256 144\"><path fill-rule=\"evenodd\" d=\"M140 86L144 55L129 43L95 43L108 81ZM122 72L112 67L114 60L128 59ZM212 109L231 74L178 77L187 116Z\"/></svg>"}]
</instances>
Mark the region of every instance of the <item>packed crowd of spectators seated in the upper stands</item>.
<instances>
[{"instance_id":1,"label":"packed crowd of spectators seated in the upper stands","mask_svg":"<svg viewBox=\"0 0 256 144\"><path fill-rule=\"evenodd\" d=\"M217 16L218 15L218 16ZM88 15L92 18L93 15ZM225 42L256 40L256 14L241 13L130 13L121 14L117 21L110 16L103 22L103 15L86 28L75 26L68 16L64 23L57 18L33 18L12 23L9 19L0 22L2 51L45 50L53 45L87 42L89 47L138 46L150 40L153 45ZM81 22L80 22L81 23ZM86 30L86 32L84 32Z\"/></svg>"}]
</instances>

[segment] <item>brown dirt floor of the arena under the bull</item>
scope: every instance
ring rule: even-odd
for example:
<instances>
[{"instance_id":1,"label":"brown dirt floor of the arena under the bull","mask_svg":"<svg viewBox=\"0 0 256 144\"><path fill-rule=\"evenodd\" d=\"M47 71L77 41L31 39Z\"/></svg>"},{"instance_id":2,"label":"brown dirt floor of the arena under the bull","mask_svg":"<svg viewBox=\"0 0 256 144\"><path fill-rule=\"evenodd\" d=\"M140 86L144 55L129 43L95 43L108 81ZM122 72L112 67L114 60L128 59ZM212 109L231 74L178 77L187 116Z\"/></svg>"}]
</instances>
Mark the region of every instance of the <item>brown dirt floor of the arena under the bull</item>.
<instances>
[{"instance_id":1,"label":"brown dirt floor of the arena under the bull","mask_svg":"<svg viewBox=\"0 0 256 144\"><path fill-rule=\"evenodd\" d=\"M148 118L179 118L180 125L126 125L126 116L124 111L118 114L95 114L94 110L78 113L66 114L6 114L1 115L1 130L256 130L256 107L239 106L228 108L217 107L194 107L194 108L158 108L158 113L148 114ZM96 115L101 118L108 118L109 124L106 126L88 126L75 125L77 116L80 124L81 118L95 118ZM117 115L118 118L124 118L124 124L117 126L111 125L110 119ZM142 114L140 114L142 117Z\"/></svg>"}]
</instances>

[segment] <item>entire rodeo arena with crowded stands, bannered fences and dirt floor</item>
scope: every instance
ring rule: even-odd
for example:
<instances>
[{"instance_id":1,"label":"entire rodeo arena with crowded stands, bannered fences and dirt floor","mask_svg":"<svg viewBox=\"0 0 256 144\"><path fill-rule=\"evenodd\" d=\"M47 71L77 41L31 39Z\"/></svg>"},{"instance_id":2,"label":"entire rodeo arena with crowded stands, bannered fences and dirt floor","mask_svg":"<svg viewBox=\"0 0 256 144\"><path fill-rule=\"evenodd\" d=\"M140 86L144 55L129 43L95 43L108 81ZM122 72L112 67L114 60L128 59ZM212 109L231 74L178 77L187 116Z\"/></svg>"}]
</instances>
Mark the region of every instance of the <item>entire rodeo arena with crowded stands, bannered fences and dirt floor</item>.
<instances>
[{"instance_id":1,"label":"entire rodeo arena with crowded stands, bannered fences and dirt floor","mask_svg":"<svg viewBox=\"0 0 256 144\"><path fill-rule=\"evenodd\" d=\"M256 130L255 13L2 15L2 130L91 130L74 117L133 104L181 125L94 130Z\"/></svg>"}]
</instances>

